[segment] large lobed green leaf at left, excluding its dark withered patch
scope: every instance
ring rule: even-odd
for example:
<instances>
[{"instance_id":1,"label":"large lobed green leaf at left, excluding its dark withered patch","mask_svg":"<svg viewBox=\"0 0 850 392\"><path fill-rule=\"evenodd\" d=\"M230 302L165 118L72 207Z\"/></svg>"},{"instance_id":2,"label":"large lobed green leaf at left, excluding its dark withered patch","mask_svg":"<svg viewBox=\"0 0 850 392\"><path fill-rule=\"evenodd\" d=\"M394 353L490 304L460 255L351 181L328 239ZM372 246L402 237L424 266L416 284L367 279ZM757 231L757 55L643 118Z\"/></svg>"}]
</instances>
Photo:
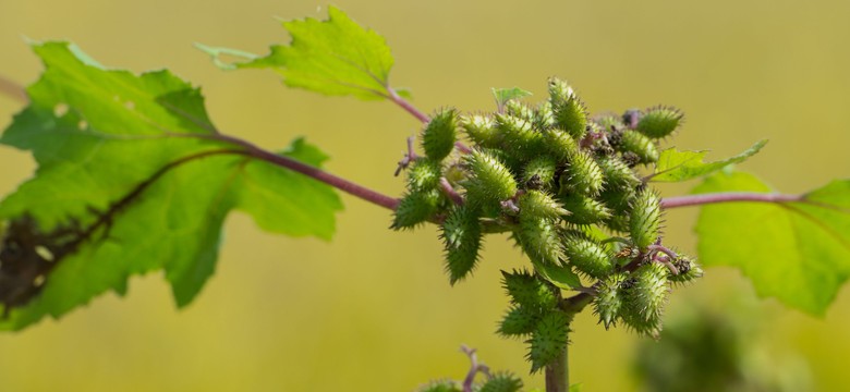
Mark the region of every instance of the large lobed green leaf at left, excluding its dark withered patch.
<instances>
[{"instance_id":1,"label":"large lobed green leaf at left, excluding its dark withered patch","mask_svg":"<svg viewBox=\"0 0 850 392\"><path fill-rule=\"evenodd\" d=\"M0 143L32 151L38 170L0 203L0 219L29 216L49 233L112 216L108 230L54 261L40 294L13 308L0 329L59 317L108 290L123 294L131 274L157 269L177 304L189 304L214 272L232 209L267 231L331 237L341 209L335 192L217 139L197 88L167 71L105 70L69 44L34 50L46 71ZM327 159L303 139L281 155L312 166ZM123 208L110 208L126 197Z\"/></svg>"}]
</instances>

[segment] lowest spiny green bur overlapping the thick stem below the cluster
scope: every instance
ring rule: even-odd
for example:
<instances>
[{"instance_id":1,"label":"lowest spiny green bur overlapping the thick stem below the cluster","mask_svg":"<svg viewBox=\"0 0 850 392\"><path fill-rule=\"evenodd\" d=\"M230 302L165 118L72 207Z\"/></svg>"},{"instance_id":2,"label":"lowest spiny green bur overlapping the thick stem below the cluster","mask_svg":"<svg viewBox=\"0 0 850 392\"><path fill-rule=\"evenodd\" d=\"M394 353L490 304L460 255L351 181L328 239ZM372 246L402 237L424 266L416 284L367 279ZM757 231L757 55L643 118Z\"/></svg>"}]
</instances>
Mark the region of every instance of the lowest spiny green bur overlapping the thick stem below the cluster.
<instances>
[{"instance_id":1,"label":"lowest spiny green bur overlapping the thick stem below the cluster","mask_svg":"<svg viewBox=\"0 0 850 392\"><path fill-rule=\"evenodd\" d=\"M567 333L570 332L570 317L554 310L543 316L532 333L527 358L532 363L532 372L555 363L567 347Z\"/></svg>"}]
</instances>

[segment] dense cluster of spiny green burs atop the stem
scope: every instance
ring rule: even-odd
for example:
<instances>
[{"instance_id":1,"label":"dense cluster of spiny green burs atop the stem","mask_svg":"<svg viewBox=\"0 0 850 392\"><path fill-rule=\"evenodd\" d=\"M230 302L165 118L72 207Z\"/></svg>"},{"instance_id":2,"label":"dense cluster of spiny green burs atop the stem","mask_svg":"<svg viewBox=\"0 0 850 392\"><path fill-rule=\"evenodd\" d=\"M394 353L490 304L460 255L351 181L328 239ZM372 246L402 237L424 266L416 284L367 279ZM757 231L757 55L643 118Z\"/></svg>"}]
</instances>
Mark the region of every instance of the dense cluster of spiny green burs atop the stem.
<instances>
[{"instance_id":1,"label":"dense cluster of spiny green burs atop the stem","mask_svg":"<svg viewBox=\"0 0 850 392\"><path fill-rule=\"evenodd\" d=\"M533 370L567 344L576 310L561 289L593 296L606 328L622 321L655 335L670 283L701 275L661 245L660 198L641 174L651 173L658 140L680 125L681 112L590 118L563 81L549 79L548 93L536 106L510 99L496 113L434 114L392 223L439 224L452 283L475 268L484 234L511 233L532 268L503 271L511 307L499 332L527 339Z\"/></svg>"}]
</instances>

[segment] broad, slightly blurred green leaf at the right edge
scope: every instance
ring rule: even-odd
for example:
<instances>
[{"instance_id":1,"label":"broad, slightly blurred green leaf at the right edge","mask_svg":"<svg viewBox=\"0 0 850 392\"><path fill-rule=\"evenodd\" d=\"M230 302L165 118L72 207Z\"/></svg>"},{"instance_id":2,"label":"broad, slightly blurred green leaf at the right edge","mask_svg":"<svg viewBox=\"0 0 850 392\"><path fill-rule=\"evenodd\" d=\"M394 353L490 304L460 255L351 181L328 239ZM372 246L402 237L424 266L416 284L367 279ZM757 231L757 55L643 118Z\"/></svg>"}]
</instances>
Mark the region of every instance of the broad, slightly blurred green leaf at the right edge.
<instances>
[{"instance_id":1,"label":"broad, slightly blurred green leaf at the right edge","mask_svg":"<svg viewBox=\"0 0 850 392\"><path fill-rule=\"evenodd\" d=\"M720 172L694 193L773 189L751 174ZM850 180L800 201L706 205L696 224L706 266L733 266L760 296L823 316L850 275Z\"/></svg>"}]
</instances>

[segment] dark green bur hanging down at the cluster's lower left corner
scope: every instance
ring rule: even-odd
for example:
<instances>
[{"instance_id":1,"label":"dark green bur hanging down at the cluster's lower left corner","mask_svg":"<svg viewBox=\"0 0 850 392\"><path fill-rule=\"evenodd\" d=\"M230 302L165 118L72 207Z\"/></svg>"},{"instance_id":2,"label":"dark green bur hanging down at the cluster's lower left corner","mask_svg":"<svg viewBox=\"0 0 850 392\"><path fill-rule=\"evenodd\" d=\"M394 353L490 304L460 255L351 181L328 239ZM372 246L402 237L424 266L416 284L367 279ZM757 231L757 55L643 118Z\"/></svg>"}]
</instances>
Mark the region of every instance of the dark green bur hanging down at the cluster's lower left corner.
<instances>
[{"instance_id":1,"label":"dark green bur hanging down at the cluster's lower left corner","mask_svg":"<svg viewBox=\"0 0 850 392\"><path fill-rule=\"evenodd\" d=\"M482 230L477 211L467 206L454 207L442 222L440 236L446 247L446 271L454 284L472 272L478 261Z\"/></svg>"}]
</instances>

